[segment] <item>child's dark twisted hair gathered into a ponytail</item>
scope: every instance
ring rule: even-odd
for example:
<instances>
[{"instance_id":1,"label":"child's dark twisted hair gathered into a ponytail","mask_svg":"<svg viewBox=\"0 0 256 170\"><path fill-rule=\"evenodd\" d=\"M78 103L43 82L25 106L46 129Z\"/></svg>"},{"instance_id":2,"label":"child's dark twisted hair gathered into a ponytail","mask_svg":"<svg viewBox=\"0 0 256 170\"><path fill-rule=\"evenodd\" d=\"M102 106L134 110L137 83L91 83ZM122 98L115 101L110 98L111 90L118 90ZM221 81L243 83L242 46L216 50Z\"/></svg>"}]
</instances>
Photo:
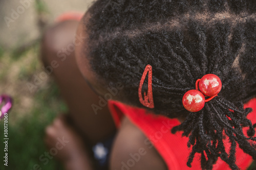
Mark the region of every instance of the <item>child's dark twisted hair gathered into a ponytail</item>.
<instances>
[{"instance_id":1,"label":"child's dark twisted hair gathered into a ponytail","mask_svg":"<svg viewBox=\"0 0 256 170\"><path fill-rule=\"evenodd\" d=\"M138 86L152 65L155 108L149 111L185 117L172 133L189 136L189 167L201 153L202 169L212 169L218 157L239 169L237 144L256 159L255 125L246 118L251 109L244 109L256 96L256 1L98 0L89 13L88 56L98 79L106 87L121 82L120 101L143 107ZM188 112L182 96L206 74L217 75L222 90L201 111ZM247 135L243 127L249 127Z\"/></svg>"}]
</instances>

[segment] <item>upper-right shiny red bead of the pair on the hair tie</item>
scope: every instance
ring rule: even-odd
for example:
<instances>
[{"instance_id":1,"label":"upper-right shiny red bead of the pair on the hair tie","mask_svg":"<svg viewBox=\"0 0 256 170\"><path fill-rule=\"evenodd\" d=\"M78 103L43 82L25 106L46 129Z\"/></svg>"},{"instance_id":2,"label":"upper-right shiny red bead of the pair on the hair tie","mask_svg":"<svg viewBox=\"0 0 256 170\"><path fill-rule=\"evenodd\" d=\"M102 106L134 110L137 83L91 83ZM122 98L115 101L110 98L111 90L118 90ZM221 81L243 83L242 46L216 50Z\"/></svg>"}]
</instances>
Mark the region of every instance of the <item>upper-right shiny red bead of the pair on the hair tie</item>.
<instances>
[{"instance_id":1,"label":"upper-right shiny red bead of the pair on the hair tie","mask_svg":"<svg viewBox=\"0 0 256 170\"><path fill-rule=\"evenodd\" d=\"M221 79L214 74L203 76L199 82L200 91L207 96L218 94L221 91L221 86Z\"/></svg>"}]
</instances>

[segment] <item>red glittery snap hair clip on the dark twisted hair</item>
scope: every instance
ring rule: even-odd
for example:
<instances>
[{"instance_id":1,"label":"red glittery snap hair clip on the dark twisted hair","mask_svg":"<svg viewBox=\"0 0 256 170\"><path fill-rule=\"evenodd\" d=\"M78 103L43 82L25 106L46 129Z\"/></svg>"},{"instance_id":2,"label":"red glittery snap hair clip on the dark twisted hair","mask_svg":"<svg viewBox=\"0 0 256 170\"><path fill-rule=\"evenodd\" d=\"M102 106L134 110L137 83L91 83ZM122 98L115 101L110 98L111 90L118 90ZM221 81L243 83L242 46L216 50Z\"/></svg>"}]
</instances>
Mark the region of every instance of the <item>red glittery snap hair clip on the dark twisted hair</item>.
<instances>
[{"instance_id":1,"label":"red glittery snap hair clip on the dark twisted hair","mask_svg":"<svg viewBox=\"0 0 256 170\"><path fill-rule=\"evenodd\" d=\"M148 79L147 79L147 92L144 91L144 100L142 98L142 93L141 93L141 90L142 90L142 85L145 81L145 78L146 78L146 75L147 75L147 72L148 72ZM140 100L140 103L143 105L143 106L146 106L148 108L154 108L154 101L153 101L153 93L152 93L152 66L151 65L147 65L144 72L143 72L143 75L141 77L141 80L140 80L140 85L139 85L139 100Z\"/></svg>"}]
</instances>

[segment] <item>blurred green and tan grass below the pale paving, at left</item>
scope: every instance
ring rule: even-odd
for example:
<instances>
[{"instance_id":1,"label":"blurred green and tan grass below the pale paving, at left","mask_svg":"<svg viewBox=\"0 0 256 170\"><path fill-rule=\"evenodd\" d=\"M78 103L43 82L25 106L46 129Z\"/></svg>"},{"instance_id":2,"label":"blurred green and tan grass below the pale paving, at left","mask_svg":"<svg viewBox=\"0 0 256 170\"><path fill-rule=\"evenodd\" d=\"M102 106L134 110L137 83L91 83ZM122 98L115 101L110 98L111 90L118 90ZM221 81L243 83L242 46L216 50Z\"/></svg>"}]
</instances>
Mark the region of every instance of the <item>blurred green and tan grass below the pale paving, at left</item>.
<instances>
[{"instance_id":1,"label":"blurred green and tan grass below the pale paving, at left","mask_svg":"<svg viewBox=\"0 0 256 170\"><path fill-rule=\"evenodd\" d=\"M42 71L38 59L39 43L30 45L22 53L5 52L0 47L0 94L8 87L13 98L13 107L8 114L8 166L4 165L4 121L0 121L0 169L31 170L38 164L42 170L62 170L55 159L40 161L39 157L49 152L44 144L45 128L58 113L67 112L52 79L47 79L30 92L26 83ZM24 99L29 99L24 101ZM45 156L44 156L45 158ZM40 169L40 168L39 168Z\"/></svg>"}]
</instances>

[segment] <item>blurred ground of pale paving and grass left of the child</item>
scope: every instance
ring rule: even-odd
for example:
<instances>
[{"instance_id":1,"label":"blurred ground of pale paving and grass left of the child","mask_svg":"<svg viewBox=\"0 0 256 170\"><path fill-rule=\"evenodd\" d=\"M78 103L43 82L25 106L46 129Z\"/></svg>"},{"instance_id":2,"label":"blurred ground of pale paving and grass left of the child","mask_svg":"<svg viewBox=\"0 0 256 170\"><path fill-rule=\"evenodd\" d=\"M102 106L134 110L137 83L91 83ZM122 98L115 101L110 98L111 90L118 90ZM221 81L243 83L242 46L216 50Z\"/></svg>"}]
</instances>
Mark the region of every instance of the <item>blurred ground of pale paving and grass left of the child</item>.
<instances>
[{"instance_id":1,"label":"blurred ground of pale paving and grass left of the child","mask_svg":"<svg viewBox=\"0 0 256 170\"><path fill-rule=\"evenodd\" d=\"M67 112L52 78L40 77L40 38L54 19L69 11L85 12L91 0L0 0L0 95L8 94L13 107L8 115L8 166L4 165L4 122L0 121L0 169L63 169L54 159L45 165L39 157L45 127L56 114ZM31 86L35 85L35 86ZM38 169L40 169L38 168Z\"/></svg>"}]
</instances>

